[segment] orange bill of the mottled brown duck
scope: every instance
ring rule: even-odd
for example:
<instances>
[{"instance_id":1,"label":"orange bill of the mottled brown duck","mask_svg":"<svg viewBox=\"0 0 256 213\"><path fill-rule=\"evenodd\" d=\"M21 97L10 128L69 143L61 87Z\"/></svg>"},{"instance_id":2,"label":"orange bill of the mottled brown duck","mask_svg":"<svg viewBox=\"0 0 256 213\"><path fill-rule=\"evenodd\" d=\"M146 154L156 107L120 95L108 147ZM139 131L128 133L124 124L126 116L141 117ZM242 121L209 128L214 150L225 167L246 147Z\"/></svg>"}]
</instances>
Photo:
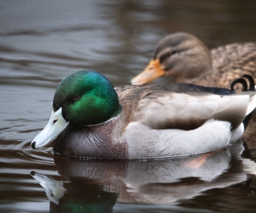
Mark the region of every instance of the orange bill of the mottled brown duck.
<instances>
[{"instance_id":1,"label":"orange bill of the mottled brown duck","mask_svg":"<svg viewBox=\"0 0 256 213\"><path fill-rule=\"evenodd\" d=\"M164 70L161 68L159 59L151 60L149 65L143 70L142 73L137 75L131 80L132 85L143 85L155 80L164 75Z\"/></svg>"}]
</instances>

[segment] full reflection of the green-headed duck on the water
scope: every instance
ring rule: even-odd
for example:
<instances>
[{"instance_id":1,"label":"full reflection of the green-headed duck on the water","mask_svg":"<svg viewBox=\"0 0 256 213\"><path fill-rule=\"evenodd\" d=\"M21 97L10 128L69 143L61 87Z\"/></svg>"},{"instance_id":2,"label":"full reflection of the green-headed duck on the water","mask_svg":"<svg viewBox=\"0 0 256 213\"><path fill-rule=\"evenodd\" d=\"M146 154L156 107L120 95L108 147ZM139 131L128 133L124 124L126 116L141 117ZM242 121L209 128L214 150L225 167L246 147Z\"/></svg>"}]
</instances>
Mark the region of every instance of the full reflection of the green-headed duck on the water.
<instances>
[{"instance_id":1,"label":"full reflection of the green-headed duck on the water","mask_svg":"<svg viewBox=\"0 0 256 213\"><path fill-rule=\"evenodd\" d=\"M255 163L241 157L242 151L237 141L218 152L162 160L95 161L54 154L58 173L69 182L31 175L46 189L51 212L112 212L117 200L171 204L247 181L247 174L256 174Z\"/></svg>"}]
</instances>

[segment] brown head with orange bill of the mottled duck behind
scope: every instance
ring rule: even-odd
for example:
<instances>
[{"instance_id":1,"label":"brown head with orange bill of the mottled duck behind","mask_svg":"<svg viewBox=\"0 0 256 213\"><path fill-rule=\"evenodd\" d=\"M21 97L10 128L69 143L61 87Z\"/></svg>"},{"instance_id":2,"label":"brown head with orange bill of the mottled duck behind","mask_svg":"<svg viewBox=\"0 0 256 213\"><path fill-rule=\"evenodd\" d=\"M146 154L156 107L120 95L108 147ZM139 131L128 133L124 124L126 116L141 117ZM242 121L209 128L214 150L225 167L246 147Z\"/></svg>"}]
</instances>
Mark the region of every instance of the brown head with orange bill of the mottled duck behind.
<instances>
[{"instance_id":1,"label":"brown head with orange bill of the mottled duck behind","mask_svg":"<svg viewBox=\"0 0 256 213\"><path fill-rule=\"evenodd\" d=\"M210 52L201 40L188 33L174 33L160 40L149 65L130 83L142 85L163 75L184 82L212 69Z\"/></svg>"}]
</instances>

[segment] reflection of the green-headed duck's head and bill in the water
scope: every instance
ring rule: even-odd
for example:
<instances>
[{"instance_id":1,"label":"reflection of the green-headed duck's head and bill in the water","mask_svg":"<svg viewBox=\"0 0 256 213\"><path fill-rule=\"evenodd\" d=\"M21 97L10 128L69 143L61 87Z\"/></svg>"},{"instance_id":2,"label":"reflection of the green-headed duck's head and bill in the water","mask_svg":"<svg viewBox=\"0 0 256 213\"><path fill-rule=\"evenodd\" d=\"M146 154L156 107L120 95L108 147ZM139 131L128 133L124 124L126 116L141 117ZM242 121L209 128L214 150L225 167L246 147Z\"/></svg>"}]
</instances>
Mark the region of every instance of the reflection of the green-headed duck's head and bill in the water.
<instances>
[{"instance_id":1,"label":"reflection of the green-headed duck's head and bill in the water","mask_svg":"<svg viewBox=\"0 0 256 213\"><path fill-rule=\"evenodd\" d=\"M118 197L117 192L109 192L102 185L77 180L66 183L64 189L60 187L62 182L53 180L48 175L31 175L45 188L50 201L50 212L112 212Z\"/></svg>"}]
</instances>

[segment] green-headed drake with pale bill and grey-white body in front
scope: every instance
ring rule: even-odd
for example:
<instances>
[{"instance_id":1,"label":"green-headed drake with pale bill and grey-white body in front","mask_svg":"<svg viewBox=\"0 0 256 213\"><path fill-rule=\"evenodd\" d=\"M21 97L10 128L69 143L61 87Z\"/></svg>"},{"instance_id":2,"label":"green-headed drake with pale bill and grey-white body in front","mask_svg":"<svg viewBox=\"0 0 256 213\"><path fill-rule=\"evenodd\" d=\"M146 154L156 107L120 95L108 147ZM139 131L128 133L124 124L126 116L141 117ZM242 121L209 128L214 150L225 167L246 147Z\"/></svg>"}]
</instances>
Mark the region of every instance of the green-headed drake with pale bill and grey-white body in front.
<instances>
[{"instance_id":1,"label":"green-headed drake with pale bill and grey-white body in front","mask_svg":"<svg viewBox=\"0 0 256 213\"><path fill-rule=\"evenodd\" d=\"M242 137L255 91L195 84L113 87L80 70L55 91L46 127L31 142L75 158L175 158L219 151Z\"/></svg>"}]
</instances>

